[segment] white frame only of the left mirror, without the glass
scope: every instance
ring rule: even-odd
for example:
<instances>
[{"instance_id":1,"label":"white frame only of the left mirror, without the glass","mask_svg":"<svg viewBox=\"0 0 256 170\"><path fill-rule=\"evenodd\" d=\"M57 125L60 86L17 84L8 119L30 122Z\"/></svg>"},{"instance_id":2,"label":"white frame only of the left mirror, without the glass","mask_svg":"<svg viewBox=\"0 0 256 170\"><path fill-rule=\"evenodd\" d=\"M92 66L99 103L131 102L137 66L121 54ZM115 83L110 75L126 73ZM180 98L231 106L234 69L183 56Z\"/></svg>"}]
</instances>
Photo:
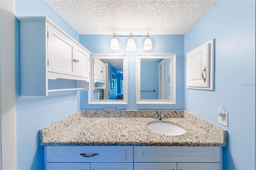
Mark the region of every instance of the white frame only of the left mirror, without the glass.
<instances>
[{"instance_id":1,"label":"white frame only of the left mirror, without the glass","mask_svg":"<svg viewBox=\"0 0 256 170\"><path fill-rule=\"evenodd\" d=\"M91 54L90 55L90 86L88 91L88 105L128 105L128 61L127 54ZM124 99L123 100L93 100L94 69L93 59L123 59Z\"/></svg>"}]
</instances>

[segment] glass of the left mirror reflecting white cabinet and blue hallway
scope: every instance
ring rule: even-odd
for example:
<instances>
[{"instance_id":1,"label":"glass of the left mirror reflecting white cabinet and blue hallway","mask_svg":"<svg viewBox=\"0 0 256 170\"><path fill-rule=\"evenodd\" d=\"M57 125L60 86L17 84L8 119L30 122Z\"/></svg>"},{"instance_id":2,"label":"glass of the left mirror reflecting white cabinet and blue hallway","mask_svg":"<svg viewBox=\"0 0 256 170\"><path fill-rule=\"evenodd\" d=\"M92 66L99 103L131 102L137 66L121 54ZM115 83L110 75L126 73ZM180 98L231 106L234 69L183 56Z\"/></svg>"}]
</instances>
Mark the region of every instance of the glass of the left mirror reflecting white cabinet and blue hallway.
<instances>
[{"instance_id":1,"label":"glass of the left mirror reflecting white cabinet and blue hallway","mask_svg":"<svg viewBox=\"0 0 256 170\"><path fill-rule=\"evenodd\" d=\"M93 100L124 99L123 59L93 59Z\"/></svg>"}]
</instances>

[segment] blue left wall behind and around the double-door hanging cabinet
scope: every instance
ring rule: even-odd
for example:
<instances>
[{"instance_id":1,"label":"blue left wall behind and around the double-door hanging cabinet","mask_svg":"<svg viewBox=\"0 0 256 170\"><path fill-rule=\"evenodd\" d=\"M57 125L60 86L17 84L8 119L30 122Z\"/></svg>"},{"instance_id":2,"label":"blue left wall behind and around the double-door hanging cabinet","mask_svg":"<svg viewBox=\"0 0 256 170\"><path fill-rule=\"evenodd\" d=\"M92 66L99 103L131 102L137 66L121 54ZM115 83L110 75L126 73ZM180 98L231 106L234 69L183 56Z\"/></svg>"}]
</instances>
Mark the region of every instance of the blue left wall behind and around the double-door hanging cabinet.
<instances>
[{"instance_id":1,"label":"blue left wall behind and around the double-door hanging cabinet","mask_svg":"<svg viewBox=\"0 0 256 170\"><path fill-rule=\"evenodd\" d=\"M47 16L55 24L79 41L79 35L44 1L15 1L16 16ZM18 170L44 168L43 147L38 146L38 130L80 110L80 95L76 92L51 93L48 97L19 96L19 22L15 21L16 36L16 135ZM50 81L49 88L67 85L75 81Z\"/></svg>"}]
</instances>

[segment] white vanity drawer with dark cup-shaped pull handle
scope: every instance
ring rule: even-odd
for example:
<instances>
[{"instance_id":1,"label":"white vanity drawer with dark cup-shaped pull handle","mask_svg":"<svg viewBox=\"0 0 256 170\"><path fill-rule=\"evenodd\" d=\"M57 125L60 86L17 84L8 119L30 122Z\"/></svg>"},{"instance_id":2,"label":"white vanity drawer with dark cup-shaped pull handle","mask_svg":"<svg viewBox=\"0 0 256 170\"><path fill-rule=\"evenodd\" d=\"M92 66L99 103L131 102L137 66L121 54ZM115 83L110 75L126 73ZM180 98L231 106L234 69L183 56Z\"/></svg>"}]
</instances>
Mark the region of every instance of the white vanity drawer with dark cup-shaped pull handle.
<instances>
[{"instance_id":1,"label":"white vanity drawer with dark cup-shaped pull handle","mask_svg":"<svg viewBox=\"0 0 256 170\"><path fill-rule=\"evenodd\" d=\"M46 146L45 156L45 162L133 162L133 148L132 146Z\"/></svg>"}]
</instances>

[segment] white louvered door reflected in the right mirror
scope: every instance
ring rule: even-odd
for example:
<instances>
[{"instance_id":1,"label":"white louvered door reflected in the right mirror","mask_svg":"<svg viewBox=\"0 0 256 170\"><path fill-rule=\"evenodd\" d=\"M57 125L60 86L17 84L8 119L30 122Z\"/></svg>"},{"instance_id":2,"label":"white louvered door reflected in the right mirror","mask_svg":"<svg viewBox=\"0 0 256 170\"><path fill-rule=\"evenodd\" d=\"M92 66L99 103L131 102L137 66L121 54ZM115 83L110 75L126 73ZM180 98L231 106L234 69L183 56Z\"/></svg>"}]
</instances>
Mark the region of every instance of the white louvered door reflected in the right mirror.
<instances>
[{"instance_id":1,"label":"white louvered door reflected in the right mirror","mask_svg":"<svg viewBox=\"0 0 256 170\"><path fill-rule=\"evenodd\" d=\"M158 99L166 99L166 69L165 60L163 59L159 63L159 93Z\"/></svg>"}]
</instances>

